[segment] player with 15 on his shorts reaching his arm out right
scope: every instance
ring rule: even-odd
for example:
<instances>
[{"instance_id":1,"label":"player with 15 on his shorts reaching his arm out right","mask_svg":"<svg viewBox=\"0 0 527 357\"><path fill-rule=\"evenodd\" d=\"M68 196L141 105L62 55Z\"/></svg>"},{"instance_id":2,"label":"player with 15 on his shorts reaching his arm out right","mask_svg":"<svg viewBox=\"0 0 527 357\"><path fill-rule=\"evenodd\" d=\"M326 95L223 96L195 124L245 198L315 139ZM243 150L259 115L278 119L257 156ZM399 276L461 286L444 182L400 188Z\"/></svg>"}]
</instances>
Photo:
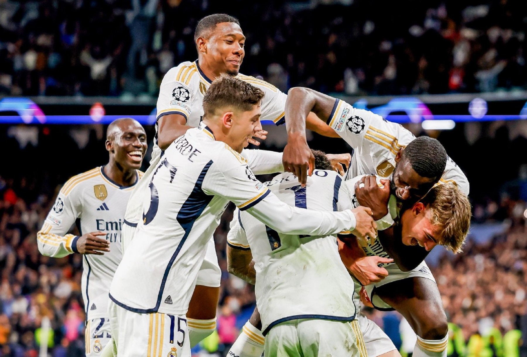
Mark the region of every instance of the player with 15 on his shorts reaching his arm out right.
<instances>
[{"instance_id":1,"label":"player with 15 on his shorts reaching his arm out right","mask_svg":"<svg viewBox=\"0 0 527 357\"><path fill-rule=\"evenodd\" d=\"M355 229L359 237L375 237L369 209L290 207L256 180L240 152L261 130L263 97L245 81L218 78L203 98L200 127L164 151L150 179L143 219L110 287L118 356L190 356L185 314L204 248L229 201L279 232L327 235Z\"/></svg>"}]
</instances>

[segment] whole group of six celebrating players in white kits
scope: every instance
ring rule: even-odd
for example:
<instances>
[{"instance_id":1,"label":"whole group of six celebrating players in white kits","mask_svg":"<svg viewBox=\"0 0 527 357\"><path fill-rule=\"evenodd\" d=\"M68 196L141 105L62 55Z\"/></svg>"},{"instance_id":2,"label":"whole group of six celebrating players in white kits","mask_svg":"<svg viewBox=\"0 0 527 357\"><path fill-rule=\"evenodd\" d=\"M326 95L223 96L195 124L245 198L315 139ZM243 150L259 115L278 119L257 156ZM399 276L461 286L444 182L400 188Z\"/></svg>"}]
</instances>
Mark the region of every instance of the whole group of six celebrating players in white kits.
<instances>
[{"instance_id":1,"label":"whole group of six celebrating players in white kits","mask_svg":"<svg viewBox=\"0 0 527 357\"><path fill-rule=\"evenodd\" d=\"M221 270L212 234L231 201L229 271L256 283L258 309L230 355L260 356L264 345L268 356L398 355L360 314L361 285L375 307L394 308L412 325L414 356L446 355L446 317L424 258L436 244L461 250L471 210L466 177L442 145L316 91L286 96L239 74L245 37L233 17L203 18L194 39L198 60L161 83L144 176L136 174L144 130L119 119L108 129L109 164L68 181L38 233L46 255L85 254L86 354L190 356L214 331ZM265 139L262 119L285 120L283 156L245 149L253 137ZM351 161L315 157L306 123L343 138L354 148ZM335 171L340 164L346 177ZM272 172L284 173L255 178ZM111 183L129 189L113 195ZM101 232L99 215L124 191L119 212L112 206L123 223L116 243ZM90 233L66 234L76 219Z\"/></svg>"}]
</instances>

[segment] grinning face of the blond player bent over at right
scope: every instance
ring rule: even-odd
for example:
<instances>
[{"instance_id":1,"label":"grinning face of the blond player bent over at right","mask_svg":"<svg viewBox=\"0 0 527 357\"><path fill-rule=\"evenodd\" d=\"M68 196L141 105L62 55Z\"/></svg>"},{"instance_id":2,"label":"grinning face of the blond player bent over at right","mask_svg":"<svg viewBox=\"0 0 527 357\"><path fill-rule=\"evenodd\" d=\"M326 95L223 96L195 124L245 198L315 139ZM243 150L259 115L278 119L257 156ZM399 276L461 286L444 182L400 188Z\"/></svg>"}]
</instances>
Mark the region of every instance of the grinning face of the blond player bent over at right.
<instances>
[{"instance_id":1,"label":"grinning face of the blond player bent over at right","mask_svg":"<svg viewBox=\"0 0 527 357\"><path fill-rule=\"evenodd\" d=\"M423 203L417 202L401 216L401 236L405 246L421 246L431 251L437 245L440 234L430 221L430 212Z\"/></svg>"}]
</instances>

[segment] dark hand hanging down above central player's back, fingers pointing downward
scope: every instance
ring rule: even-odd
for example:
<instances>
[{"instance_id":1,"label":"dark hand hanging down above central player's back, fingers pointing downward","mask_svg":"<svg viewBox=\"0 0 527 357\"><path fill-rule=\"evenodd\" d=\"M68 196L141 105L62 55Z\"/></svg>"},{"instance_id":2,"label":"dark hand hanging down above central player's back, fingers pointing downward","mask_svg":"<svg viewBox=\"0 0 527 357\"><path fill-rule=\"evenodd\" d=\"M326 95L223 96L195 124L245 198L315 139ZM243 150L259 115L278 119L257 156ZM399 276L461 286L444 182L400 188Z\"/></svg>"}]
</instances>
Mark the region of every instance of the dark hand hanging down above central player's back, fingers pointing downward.
<instances>
[{"instance_id":1,"label":"dark hand hanging down above central player's back, fingers pointing downward","mask_svg":"<svg viewBox=\"0 0 527 357\"><path fill-rule=\"evenodd\" d=\"M315 168L315 156L309 146L305 137L289 137L287 145L284 148L284 156L282 157L284 170L292 172L298 177L298 182L302 187L306 186L307 176L313 175Z\"/></svg>"}]
</instances>

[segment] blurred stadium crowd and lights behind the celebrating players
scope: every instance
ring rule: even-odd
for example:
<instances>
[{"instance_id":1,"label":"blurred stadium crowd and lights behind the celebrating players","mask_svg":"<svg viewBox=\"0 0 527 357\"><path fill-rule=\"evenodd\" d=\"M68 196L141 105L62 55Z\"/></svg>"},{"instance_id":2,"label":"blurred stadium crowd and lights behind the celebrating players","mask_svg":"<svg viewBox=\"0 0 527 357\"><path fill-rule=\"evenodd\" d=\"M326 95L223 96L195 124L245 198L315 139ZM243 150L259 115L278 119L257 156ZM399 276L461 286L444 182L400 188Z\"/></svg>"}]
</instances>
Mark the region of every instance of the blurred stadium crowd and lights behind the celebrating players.
<instances>
[{"instance_id":1,"label":"blurred stadium crowd and lights behind the celebrating players","mask_svg":"<svg viewBox=\"0 0 527 357\"><path fill-rule=\"evenodd\" d=\"M81 257L41 256L36 231L67 178L105 164L108 116L141 116L151 145L160 80L196 59L193 29L217 12L240 19L243 74L282 91L308 86L441 140L469 178L473 206L464 253L438 247L427 258L457 331L449 355L527 355L518 338L527 334L522 8L510 0L0 0L0 355L37 356L43 317L50 355L83 355ZM425 130L423 119L455 127ZM285 128L266 128L262 147L283 148ZM310 145L349 151L312 133ZM214 236L224 271L217 340L196 355L221 355L255 304L252 288L226 272L230 215ZM397 313L366 312L397 345L411 338Z\"/></svg>"}]
</instances>

